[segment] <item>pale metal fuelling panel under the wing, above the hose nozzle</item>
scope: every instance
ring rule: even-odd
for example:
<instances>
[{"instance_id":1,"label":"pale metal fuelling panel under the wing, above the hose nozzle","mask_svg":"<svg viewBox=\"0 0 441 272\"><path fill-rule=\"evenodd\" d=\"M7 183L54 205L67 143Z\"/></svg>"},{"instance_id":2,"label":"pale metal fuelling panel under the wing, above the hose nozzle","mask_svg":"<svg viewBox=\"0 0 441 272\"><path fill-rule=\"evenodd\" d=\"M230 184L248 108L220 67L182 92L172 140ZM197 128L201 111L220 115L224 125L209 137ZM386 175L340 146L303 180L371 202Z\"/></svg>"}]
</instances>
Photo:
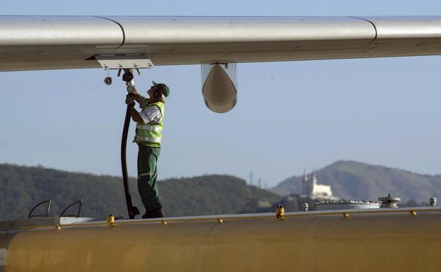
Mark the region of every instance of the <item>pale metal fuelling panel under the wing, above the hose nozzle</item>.
<instances>
[{"instance_id":1,"label":"pale metal fuelling panel under the wing, above the hose nozzle","mask_svg":"<svg viewBox=\"0 0 441 272\"><path fill-rule=\"evenodd\" d=\"M95 59L104 69L152 68L153 62L143 54L96 55Z\"/></svg>"}]
</instances>

